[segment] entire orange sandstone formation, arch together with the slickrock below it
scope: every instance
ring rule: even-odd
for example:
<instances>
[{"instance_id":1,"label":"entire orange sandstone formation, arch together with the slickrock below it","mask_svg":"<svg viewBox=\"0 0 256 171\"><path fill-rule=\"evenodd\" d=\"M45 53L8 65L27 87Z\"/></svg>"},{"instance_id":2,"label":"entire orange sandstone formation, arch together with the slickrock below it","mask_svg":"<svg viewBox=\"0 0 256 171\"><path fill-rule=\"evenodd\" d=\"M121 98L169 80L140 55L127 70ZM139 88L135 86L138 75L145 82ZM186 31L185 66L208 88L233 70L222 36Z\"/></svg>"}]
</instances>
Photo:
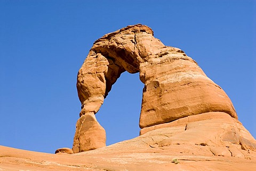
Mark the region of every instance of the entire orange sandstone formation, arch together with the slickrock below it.
<instances>
[{"instance_id":1,"label":"entire orange sandstone formation, arch together with the slickrock below it","mask_svg":"<svg viewBox=\"0 0 256 171\"><path fill-rule=\"evenodd\" d=\"M125 71L140 72L145 83L140 136L105 147L95 114ZM95 41L77 90L82 110L73 149L53 155L0 146L0 170L256 170L256 140L226 93L145 25Z\"/></svg>"}]
</instances>

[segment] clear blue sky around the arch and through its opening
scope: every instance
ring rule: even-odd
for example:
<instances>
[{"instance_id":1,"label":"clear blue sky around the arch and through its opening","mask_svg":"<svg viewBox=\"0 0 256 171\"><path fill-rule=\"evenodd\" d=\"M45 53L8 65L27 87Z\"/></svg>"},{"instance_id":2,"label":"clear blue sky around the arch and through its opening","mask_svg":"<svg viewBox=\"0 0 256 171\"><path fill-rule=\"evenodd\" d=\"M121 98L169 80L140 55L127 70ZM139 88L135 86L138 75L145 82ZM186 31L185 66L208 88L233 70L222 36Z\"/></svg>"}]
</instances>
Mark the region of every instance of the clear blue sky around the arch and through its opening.
<instances>
[{"instance_id":1,"label":"clear blue sky around the arch and through its opening","mask_svg":"<svg viewBox=\"0 0 256 171\"><path fill-rule=\"evenodd\" d=\"M256 1L0 0L0 144L72 147L76 75L93 42L142 23L195 59L256 137ZM123 73L96 115L107 144L139 135L143 84Z\"/></svg>"}]
</instances>

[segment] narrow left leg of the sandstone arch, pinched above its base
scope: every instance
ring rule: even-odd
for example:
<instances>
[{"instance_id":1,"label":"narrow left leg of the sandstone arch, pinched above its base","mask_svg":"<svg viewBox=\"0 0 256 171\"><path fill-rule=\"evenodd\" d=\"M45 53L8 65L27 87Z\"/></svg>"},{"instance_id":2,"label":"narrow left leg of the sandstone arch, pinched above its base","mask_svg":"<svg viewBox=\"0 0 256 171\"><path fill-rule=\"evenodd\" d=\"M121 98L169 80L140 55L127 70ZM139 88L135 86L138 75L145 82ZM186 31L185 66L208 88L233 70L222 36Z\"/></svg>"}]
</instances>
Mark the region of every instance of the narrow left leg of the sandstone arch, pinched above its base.
<instances>
[{"instance_id":1,"label":"narrow left leg of the sandstone arch, pinched above its base","mask_svg":"<svg viewBox=\"0 0 256 171\"><path fill-rule=\"evenodd\" d=\"M74 153L106 146L106 132L95 114L111 86L124 71L122 66L103 56L99 50L90 50L77 75L77 91L82 110L76 123Z\"/></svg>"}]
</instances>

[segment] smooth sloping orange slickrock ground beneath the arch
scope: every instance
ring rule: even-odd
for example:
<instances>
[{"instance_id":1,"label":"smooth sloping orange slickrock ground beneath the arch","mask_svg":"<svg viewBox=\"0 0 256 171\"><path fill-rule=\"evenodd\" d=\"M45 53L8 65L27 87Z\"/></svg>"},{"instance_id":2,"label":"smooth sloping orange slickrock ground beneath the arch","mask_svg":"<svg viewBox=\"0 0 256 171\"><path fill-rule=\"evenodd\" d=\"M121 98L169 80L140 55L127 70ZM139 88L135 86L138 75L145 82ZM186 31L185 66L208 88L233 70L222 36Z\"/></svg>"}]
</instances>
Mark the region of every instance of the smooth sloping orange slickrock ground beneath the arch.
<instances>
[{"instance_id":1,"label":"smooth sloping orange slickrock ground beneath the arch","mask_svg":"<svg viewBox=\"0 0 256 171\"><path fill-rule=\"evenodd\" d=\"M161 125L137 138L71 155L0 146L0 170L256 170L254 138L226 113Z\"/></svg>"}]
</instances>

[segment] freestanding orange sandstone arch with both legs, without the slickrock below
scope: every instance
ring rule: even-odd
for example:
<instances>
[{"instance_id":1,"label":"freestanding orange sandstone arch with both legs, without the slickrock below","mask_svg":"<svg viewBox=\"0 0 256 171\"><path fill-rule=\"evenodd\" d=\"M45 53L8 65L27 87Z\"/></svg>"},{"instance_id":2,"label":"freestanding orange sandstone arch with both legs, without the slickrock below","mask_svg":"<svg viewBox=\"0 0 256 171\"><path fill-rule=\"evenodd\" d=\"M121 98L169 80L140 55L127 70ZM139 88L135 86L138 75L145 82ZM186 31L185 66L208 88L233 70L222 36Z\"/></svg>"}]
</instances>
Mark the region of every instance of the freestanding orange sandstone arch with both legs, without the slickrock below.
<instances>
[{"instance_id":1,"label":"freestanding orange sandstone arch with both legs, without the slickrock below","mask_svg":"<svg viewBox=\"0 0 256 171\"><path fill-rule=\"evenodd\" d=\"M140 128L207 112L237 118L229 97L181 49L165 46L146 25L129 25L96 40L77 75L82 104L73 151L106 146L95 118L121 73L140 73L143 88Z\"/></svg>"}]
</instances>

